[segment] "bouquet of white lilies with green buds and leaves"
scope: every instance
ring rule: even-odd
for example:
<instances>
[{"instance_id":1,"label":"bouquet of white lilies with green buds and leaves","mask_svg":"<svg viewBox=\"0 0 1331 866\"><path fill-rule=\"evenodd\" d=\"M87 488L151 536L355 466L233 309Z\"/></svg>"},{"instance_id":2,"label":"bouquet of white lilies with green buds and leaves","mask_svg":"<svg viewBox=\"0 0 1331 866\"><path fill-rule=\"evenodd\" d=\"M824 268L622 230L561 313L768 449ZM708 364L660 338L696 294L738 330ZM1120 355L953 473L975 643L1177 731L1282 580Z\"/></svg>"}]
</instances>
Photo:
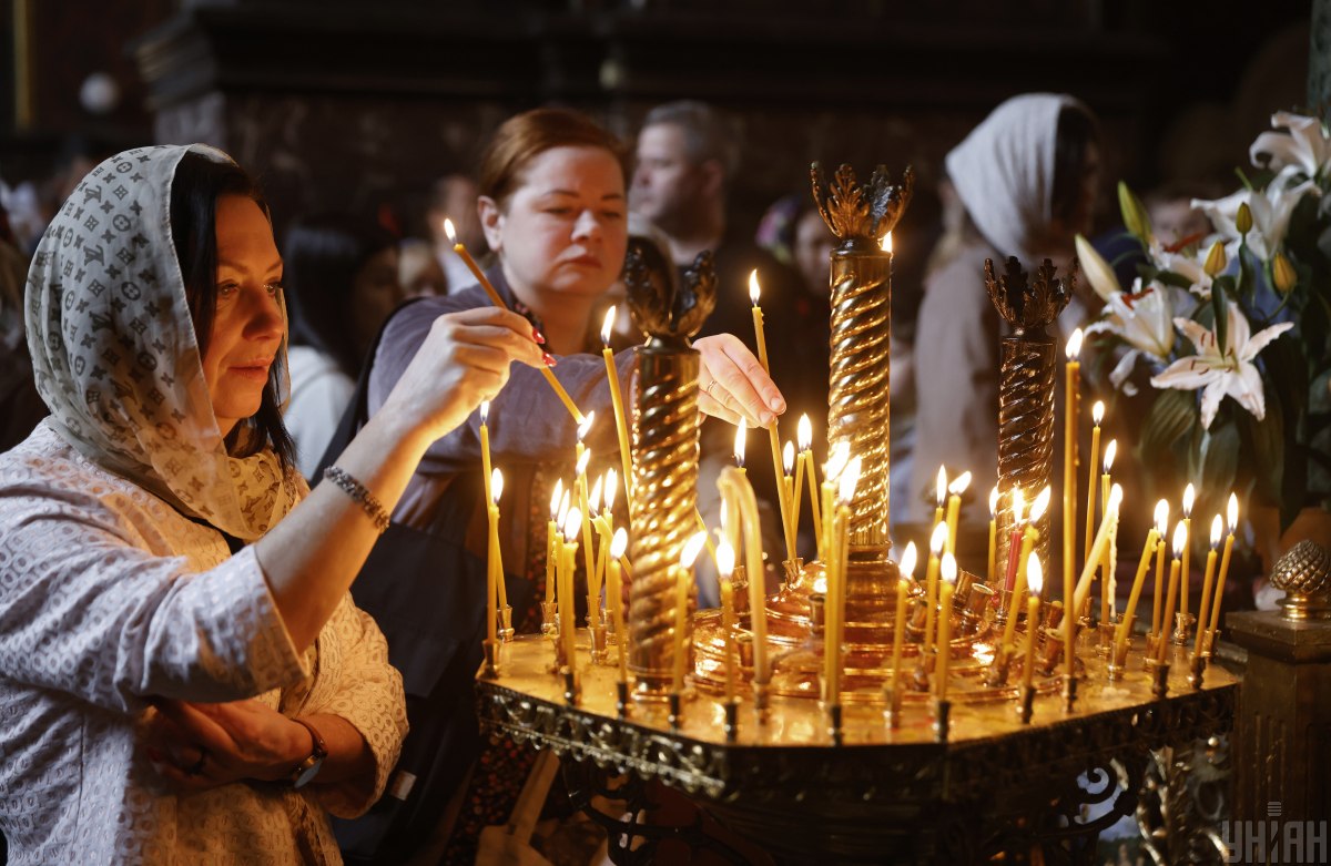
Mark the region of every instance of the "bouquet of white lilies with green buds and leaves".
<instances>
[{"instance_id":1,"label":"bouquet of white lilies with green buds and leaves","mask_svg":"<svg viewBox=\"0 0 1331 866\"><path fill-rule=\"evenodd\" d=\"M1151 475L1177 468L1215 500L1236 490L1276 505L1283 528L1331 509L1331 136L1298 114L1271 125L1242 189L1194 200L1210 237L1162 245L1119 184L1145 253L1130 291L1085 238L1077 253L1105 301L1087 333L1117 361L1110 383L1129 398L1143 378L1153 388L1138 439Z\"/></svg>"}]
</instances>

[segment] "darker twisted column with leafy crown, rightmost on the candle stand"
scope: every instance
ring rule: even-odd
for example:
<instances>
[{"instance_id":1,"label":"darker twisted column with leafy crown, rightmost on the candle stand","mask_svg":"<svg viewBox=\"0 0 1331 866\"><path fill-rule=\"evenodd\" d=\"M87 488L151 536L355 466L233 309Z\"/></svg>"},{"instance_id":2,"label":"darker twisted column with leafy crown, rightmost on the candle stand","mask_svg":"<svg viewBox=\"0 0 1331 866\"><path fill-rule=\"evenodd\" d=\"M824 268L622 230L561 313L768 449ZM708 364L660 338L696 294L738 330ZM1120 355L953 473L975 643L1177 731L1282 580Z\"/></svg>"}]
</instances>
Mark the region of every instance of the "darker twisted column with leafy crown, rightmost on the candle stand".
<instances>
[{"instance_id":1,"label":"darker twisted column with leafy crown, rightmost on the candle stand","mask_svg":"<svg viewBox=\"0 0 1331 866\"><path fill-rule=\"evenodd\" d=\"M1028 278L1021 263L1009 258L1004 274L996 275L993 259L985 259L985 286L998 314L1013 327L1002 341L998 386L998 490L1004 499L1021 488L1028 502L1053 479L1054 455L1054 341L1045 329L1071 299L1077 266L1066 278L1054 277L1049 259ZM996 561L1008 561L1014 515L998 509ZM1049 559L1050 509L1036 521L1040 540L1036 553Z\"/></svg>"}]
</instances>

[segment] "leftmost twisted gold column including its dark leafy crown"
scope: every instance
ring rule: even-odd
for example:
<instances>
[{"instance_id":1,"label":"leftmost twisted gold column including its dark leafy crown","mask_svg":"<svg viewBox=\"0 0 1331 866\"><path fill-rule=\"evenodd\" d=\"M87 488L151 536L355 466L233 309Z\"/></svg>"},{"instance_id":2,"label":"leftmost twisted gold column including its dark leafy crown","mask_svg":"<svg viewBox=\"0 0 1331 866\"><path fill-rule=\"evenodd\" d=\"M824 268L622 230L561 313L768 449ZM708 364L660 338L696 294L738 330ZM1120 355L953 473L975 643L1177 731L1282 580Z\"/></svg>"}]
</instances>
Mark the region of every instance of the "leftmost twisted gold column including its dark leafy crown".
<instances>
[{"instance_id":1,"label":"leftmost twisted gold column including its dark leafy crown","mask_svg":"<svg viewBox=\"0 0 1331 866\"><path fill-rule=\"evenodd\" d=\"M700 254L681 279L664 250L635 242L624 283L634 321L648 334L638 350L634 407L628 668L635 696L660 700L673 678L677 563L696 531L699 355L688 338L712 311L716 275L711 253ZM688 652L687 640L683 647Z\"/></svg>"}]
</instances>

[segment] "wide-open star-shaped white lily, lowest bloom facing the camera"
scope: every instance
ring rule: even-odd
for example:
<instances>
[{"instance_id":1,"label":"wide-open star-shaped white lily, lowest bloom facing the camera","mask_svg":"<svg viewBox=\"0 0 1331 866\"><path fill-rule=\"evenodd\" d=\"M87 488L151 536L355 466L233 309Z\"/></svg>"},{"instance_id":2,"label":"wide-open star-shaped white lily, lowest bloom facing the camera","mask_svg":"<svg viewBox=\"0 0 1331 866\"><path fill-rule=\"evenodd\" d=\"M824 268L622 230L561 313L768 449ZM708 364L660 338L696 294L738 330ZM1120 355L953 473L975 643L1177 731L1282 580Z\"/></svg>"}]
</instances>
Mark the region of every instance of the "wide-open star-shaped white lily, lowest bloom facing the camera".
<instances>
[{"instance_id":1,"label":"wide-open star-shaped white lily, lowest bloom facing the camera","mask_svg":"<svg viewBox=\"0 0 1331 866\"><path fill-rule=\"evenodd\" d=\"M1282 322L1268 329L1251 333L1247 317L1236 305L1229 305L1229 334L1225 354L1221 354L1215 331L1209 331L1193 319L1174 319L1178 330L1193 341L1197 354L1179 358L1167 370L1151 376L1157 388L1178 388L1202 392L1202 426L1210 430L1221 400L1229 394L1239 406L1250 411L1258 420L1266 418L1266 395L1262 390L1262 374L1252 361L1266 349L1267 343L1294 327L1292 322Z\"/></svg>"}]
</instances>

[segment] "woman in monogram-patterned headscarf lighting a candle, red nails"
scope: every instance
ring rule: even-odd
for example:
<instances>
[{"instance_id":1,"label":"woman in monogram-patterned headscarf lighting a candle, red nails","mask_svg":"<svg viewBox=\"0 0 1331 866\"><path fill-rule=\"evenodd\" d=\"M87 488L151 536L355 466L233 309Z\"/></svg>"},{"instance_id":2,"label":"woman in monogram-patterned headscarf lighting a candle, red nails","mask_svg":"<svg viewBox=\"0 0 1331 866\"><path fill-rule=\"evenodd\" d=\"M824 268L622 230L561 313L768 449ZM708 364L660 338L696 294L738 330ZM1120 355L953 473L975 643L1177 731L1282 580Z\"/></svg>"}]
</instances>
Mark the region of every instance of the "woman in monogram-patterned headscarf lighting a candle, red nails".
<instances>
[{"instance_id":1,"label":"woman in monogram-patterned headscarf lighting a candle, red nails","mask_svg":"<svg viewBox=\"0 0 1331 866\"><path fill-rule=\"evenodd\" d=\"M539 364L530 325L435 321L309 491L281 423L282 263L210 148L98 165L25 318L51 416L0 456L0 831L13 863L338 862L325 809L406 733L347 587L426 447Z\"/></svg>"}]
</instances>

